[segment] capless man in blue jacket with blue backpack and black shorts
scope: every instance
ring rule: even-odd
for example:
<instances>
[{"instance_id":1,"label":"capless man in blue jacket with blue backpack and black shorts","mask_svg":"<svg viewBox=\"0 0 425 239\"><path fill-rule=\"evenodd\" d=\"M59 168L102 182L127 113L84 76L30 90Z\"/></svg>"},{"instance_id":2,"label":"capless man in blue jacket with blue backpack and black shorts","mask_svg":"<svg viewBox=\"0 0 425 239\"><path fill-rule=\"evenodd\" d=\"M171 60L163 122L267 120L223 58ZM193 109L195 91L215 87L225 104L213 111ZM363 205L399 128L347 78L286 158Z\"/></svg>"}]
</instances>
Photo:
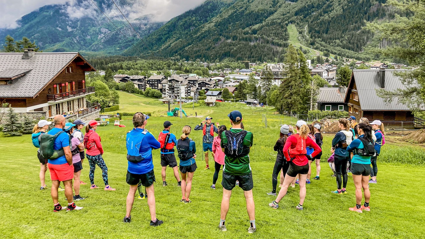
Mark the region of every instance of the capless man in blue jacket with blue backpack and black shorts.
<instances>
[{"instance_id":1,"label":"capless man in blue jacket with blue backpack and black shorts","mask_svg":"<svg viewBox=\"0 0 425 239\"><path fill-rule=\"evenodd\" d=\"M133 116L134 128L127 133L127 184L130 185L130 191L127 195L127 212L124 222L131 222L131 208L133 208L134 195L137 191L137 184L142 181L142 185L149 194L147 205L150 211L150 225L159 226L163 221L156 218L155 211L155 193L153 190L153 182L155 182L155 174L153 173L152 149L158 149L161 144L150 134L145 126L149 117L142 113L136 113Z\"/></svg>"}]
</instances>

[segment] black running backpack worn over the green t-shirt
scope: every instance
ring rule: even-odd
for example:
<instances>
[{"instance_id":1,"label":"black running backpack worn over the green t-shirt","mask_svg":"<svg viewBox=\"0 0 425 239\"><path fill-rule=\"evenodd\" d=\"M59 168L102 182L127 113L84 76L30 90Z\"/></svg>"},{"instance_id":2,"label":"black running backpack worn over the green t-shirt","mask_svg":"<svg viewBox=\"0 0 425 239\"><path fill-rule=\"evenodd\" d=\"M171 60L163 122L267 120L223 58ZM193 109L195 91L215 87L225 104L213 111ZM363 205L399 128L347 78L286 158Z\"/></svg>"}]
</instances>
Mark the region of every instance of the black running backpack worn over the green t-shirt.
<instances>
[{"instance_id":1,"label":"black running backpack worn over the green t-shirt","mask_svg":"<svg viewBox=\"0 0 425 239\"><path fill-rule=\"evenodd\" d=\"M228 157L243 157L249 154L249 147L244 147L244 139L247 131L232 133L232 131L224 131L227 138L227 145L224 148L224 154Z\"/></svg>"}]
</instances>

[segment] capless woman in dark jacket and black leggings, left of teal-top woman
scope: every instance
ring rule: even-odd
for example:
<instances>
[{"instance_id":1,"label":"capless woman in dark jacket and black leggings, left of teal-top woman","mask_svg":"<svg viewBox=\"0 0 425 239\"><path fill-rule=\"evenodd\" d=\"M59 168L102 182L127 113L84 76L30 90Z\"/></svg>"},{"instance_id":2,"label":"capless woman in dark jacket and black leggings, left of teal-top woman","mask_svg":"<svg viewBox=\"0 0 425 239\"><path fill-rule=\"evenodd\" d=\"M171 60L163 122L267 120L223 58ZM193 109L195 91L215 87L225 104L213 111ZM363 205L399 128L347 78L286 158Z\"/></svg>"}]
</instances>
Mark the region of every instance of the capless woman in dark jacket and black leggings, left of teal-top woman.
<instances>
[{"instance_id":1,"label":"capless woman in dark jacket and black leggings, left of teal-top woman","mask_svg":"<svg viewBox=\"0 0 425 239\"><path fill-rule=\"evenodd\" d=\"M354 140L354 134L353 131L350 131L350 121L348 119L339 119L338 126L341 130L335 134L334 139L332 139L331 150L331 153L334 153L335 173L337 175L337 190L332 191L332 193L345 194L347 193L347 164L348 157L350 155L346 149L347 146Z\"/></svg>"}]
</instances>

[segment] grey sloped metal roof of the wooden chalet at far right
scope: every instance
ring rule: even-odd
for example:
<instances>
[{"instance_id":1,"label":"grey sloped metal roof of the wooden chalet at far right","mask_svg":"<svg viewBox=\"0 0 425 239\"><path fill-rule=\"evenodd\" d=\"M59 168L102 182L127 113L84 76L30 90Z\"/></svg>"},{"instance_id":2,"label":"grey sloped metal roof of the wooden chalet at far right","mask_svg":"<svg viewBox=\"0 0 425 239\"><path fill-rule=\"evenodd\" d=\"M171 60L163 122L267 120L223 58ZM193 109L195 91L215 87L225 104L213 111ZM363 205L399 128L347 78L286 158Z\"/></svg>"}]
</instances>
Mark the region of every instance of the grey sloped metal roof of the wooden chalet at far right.
<instances>
[{"instance_id":1,"label":"grey sloped metal roof of the wooden chalet at far right","mask_svg":"<svg viewBox=\"0 0 425 239\"><path fill-rule=\"evenodd\" d=\"M397 89L408 89L413 86L418 86L416 80L410 85L402 83L400 77L394 75L395 72L408 71L404 69L385 69L385 90L394 91ZM359 101L362 110L382 110L382 111L410 111L411 109L397 100L391 103L385 103L384 99L376 94L376 89L381 89L381 72L380 70L353 70L349 88L353 87L354 82L356 83L357 93L359 94ZM345 102L348 102L350 96L348 90L345 96Z\"/></svg>"}]
</instances>

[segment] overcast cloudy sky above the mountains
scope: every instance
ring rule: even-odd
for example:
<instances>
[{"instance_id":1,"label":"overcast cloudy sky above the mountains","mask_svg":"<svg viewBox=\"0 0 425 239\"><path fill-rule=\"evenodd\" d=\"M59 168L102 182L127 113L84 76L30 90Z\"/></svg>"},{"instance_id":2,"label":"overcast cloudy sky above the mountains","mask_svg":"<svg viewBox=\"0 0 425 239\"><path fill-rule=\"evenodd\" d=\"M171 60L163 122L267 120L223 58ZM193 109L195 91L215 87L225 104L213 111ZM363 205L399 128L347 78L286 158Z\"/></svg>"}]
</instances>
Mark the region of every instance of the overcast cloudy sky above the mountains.
<instances>
[{"instance_id":1,"label":"overcast cloudy sky above the mountains","mask_svg":"<svg viewBox=\"0 0 425 239\"><path fill-rule=\"evenodd\" d=\"M109 5L113 6L111 0ZM120 7L120 9L130 18L134 19L145 14L153 14L155 21L168 21L187 10L193 9L205 0L127 0L133 2L131 7ZM65 4L68 3L66 12L72 18L82 16L90 16L97 14L83 1L82 6L76 6L76 0L0 0L0 28L16 28L18 24L16 20L24 15L35 11L38 8L49 4ZM90 0L89 0L90 2ZM118 6L119 0L115 1ZM117 13L118 10L114 9ZM110 12L110 14L113 14ZM113 14L115 16L115 14Z\"/></svg>"}]
</instances>

